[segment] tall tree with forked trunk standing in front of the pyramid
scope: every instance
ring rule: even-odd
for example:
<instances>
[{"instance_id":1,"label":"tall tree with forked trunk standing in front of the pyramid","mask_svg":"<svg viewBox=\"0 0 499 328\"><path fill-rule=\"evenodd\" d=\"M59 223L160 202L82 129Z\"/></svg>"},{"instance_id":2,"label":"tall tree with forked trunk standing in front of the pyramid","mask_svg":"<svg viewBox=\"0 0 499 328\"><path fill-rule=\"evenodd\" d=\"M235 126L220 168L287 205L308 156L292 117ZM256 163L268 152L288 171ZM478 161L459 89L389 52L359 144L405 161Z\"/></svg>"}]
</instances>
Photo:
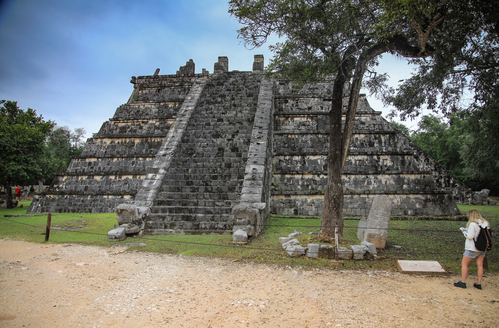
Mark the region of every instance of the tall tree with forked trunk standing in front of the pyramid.
<instances>
[{"instance_id":1,"label":"tall tree with forked trunk standing in front of the pyramid","mask_svg":"<svg viewBox=\"0 0 499 328\"><path fill-rule=\"evenodd\" d=\"M284 39L270 47L274 57L267 76L290 78L298 86L326 75L335 76L321 231L322 238L327 238L334 235L334 226L339 226L341 237L341 173L364 74L366 70L372 72L376 58L385 52L412 58L432 55L435 28L448 12L448 0L231 0L229 4L229 12L245 25L239 36L247 47L261 46L271 34ZM381 82L383 78L378 76L371 86L375 88ZM348 83L342 129L343 92Z\"/></svg>"}]
</instances>

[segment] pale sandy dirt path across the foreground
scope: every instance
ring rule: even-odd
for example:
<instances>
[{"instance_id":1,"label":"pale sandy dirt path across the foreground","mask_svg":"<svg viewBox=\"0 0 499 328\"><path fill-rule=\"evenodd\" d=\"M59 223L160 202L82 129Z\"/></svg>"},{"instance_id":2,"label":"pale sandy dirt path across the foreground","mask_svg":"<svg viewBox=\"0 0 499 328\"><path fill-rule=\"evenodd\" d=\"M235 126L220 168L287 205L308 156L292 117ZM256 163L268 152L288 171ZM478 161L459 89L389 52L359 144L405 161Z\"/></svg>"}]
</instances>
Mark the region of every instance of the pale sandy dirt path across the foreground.
<instances>
[{"instance_id":1,"label":"pale sandy dirt path across the foreground","mask_svg":"<svg viewBox=\"0 0 499 328\"><path fill-rule=\"evenodd\" d=\"M455 278L0 240L0 327L499 327L499 275Z\"/></svg>"}]
</instances>

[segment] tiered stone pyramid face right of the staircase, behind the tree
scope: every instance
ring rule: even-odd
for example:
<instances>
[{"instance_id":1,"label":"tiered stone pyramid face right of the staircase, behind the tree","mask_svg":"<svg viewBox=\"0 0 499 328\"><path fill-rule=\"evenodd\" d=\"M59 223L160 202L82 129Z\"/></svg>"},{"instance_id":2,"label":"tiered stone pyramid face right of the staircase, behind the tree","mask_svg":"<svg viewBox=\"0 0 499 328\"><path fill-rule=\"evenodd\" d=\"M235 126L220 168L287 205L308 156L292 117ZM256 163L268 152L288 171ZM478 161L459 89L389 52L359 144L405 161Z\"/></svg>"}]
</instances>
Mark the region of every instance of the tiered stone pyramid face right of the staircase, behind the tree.
<instances>
[{"instance_id":1,"label":"tiered stone pyramid face right of the staircase, behind the tree","mask_svg":"<svg viewBox=\"0 0 499 328\"><path fill-rule=\"evenodd\" d=\"M327 184L331 82L275 95L272 213L320 215ZM344 98L344 105L348 98ZM343 170L344 215L367 216L374 195L394 198L394 215L454 215L467 187L359 98ZM343 117L344 119L344 117ZM467 198L468 197L468 198Z\"/></svg>"}]
</instances>

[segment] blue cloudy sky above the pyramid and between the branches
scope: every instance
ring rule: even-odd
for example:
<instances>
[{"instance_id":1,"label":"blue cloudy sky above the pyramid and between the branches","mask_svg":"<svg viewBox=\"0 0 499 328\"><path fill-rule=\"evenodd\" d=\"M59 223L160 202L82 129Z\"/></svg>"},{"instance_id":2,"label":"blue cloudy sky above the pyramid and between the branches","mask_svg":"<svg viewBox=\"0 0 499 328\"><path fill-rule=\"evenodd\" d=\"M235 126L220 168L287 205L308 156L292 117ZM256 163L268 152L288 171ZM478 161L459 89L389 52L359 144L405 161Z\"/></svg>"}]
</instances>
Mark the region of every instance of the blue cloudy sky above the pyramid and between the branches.
<instances>
[{"instance_id":1,"label":"blue cloudy sky above the pyramid and between the branches","mask_svg":"<svg viewBox=\"0 0 499 328\"><path fill-rule=\"evenodd\" d=\"M193 59L213 72L218 56L249 71L246 49L227 0L0 0L0 99L44 118L97 132L133 90L131 76L175 74ZM275 40L274 40L275 41ZM403 60L380 61L390 84L410 76ZM371 106L384 113L380 102ZM408 122L413 125L414 122Z\"/></svg>"}]
</instances>

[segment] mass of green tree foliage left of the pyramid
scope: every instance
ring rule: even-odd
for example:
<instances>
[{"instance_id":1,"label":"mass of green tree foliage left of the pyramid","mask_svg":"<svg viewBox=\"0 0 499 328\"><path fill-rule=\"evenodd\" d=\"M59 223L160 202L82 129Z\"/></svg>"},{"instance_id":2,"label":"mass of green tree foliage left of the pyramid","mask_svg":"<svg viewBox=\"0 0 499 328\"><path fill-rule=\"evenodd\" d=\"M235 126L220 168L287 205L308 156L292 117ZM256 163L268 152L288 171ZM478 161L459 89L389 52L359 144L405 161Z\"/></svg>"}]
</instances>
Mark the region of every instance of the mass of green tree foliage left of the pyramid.
<instances>
[{"instance_id":1,"label":"mass of green tree foliage left of the pyramid","mask_svg":"<svg viewBox=\"0 0 499 328\"><path fill-rule=\"evenodd\" d=\"M0 182L34 184L51 181L65 171L72 155L83 149L85 129L57 126L33 109L19 109L16 102L0 101Z\"/></svg>"}]
</instances>

